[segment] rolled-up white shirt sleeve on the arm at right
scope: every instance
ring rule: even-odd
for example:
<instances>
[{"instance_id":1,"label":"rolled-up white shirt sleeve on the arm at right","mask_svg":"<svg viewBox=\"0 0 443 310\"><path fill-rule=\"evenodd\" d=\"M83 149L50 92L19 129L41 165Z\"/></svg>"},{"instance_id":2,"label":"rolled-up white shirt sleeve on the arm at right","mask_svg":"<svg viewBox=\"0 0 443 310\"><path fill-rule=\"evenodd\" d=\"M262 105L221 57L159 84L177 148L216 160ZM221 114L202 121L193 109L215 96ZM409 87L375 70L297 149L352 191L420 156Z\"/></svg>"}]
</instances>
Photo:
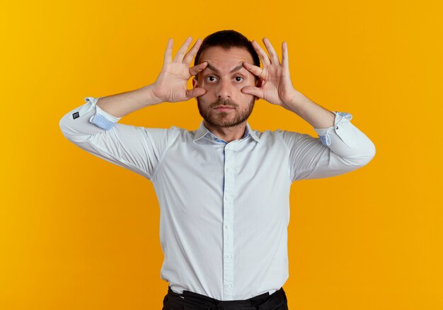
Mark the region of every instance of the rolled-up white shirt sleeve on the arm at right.
<instances>
[{"instance_id":1,"label":"rolled-up white shirt sleeve on the arm at right","mask_svg":"<svg viewBox=\"0 0 443 310\"><path fill-rule=\"evenodd\" d=\"M375 156L374 143L350 122L352 115L333 111L334 125L313 128L309 134L283 132L289 147L291 180L327 178L367 165Z\"/></svg>"}]
</instances>

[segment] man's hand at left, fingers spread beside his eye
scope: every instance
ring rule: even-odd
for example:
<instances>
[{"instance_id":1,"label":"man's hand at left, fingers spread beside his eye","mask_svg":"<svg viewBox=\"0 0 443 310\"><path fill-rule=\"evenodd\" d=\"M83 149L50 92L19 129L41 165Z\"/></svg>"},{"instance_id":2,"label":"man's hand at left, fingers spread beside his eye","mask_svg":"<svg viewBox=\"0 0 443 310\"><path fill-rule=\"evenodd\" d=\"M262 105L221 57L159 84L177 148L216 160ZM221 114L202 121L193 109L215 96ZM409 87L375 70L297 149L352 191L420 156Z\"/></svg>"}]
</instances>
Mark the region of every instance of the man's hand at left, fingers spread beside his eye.
<instances>
[{"instance_id":1,"label":"man's hand at left, fingers spread beside his eye","mask_svg":"<svg viewBox=\"0 0 443 310\"><path fill-rule=\"evenodd\" d=\"M207 66L207 62L202 62L194 67L189 67L192 58L197 54L202 40L198 39L190 51L185 54L192 42L192 37L188 37L178 50L176 57L171 60L173 40L168 40L166 47L163 68L154 84L151 85L153 95L161 102L188 101L190 98L202 96L206 93L205 88L196 87L187 89L188 80L195 76Z\"/></svg>"}]
</instances>

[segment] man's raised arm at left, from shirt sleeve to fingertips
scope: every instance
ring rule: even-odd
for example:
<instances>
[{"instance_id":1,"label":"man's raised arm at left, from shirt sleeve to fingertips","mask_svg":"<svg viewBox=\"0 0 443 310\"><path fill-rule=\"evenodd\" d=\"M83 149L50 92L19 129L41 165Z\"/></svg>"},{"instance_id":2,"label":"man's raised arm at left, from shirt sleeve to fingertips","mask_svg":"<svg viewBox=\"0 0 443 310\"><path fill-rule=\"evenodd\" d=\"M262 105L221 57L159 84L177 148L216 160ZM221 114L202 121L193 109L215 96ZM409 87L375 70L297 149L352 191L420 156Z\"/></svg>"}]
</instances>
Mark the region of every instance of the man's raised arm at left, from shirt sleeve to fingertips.
<instances>
[{"instance_id":1,"label":"man's raised arm at left, from shirt sleeve to fingertips","mask_svg":"<svg viewBox=\"0 0 443 310\"><path fill-rule=\"evenodd\" d=\"M178 130L117 122L122 116L149 105L187 101L205 93L203 88L187 89L188 79L207 64L189 67L201 40L186 53L190 42L192 38L189 37L172 60L173 41L169 39L163 68L154 84L108 97L86 97L84 105L71 110L59 121L64 137L93 155L151 179L163 153L178 136Z\"/></svg>"}]
</instances>

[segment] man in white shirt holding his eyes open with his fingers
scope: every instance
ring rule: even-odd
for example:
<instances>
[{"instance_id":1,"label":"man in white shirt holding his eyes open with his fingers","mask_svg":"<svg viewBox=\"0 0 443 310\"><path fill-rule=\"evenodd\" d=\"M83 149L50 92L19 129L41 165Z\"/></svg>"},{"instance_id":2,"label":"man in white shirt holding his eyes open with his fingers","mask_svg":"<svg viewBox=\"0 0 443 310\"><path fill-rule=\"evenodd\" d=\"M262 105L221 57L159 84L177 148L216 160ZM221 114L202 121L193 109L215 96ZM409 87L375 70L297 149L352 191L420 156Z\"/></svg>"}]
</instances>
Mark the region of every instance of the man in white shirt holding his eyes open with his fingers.
<instances>
[{"instance_id":1,"label":"man in white shirt holding his eyes open with his fingers","mask_svg":"<svg viewBox=\"0 0 443 310\"><path fill-rule=\"evenodd\" d=\"M161 277L169 283L164 310L287 309L291 183L360 168L374 157L374 144L352 125L352 115L326 110L293 88L286 42L281 63L269 40L263 40L268 57L234 30L199 39L186 52L190 42L172 59L168 41L154 84L87 97L59 125L77 146L153 183ZM197 130L117 122L149 105L190 98L203 117ZM247 120L259 98L299 115L319 138L251 130Z\"/></svg>"}]
</instances>

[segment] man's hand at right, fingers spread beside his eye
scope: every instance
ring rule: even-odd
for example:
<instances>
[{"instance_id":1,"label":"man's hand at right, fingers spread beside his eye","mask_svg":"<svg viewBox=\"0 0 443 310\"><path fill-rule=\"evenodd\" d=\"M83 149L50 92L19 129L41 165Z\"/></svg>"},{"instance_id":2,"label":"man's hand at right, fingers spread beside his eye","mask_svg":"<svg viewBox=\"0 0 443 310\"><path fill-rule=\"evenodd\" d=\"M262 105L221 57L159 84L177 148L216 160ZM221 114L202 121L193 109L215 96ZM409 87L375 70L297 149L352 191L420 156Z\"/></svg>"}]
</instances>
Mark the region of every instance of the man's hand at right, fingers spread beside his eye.
<instances>
[{"instance_id":1,"label":"man's hand at right, fingers spread beside his eye","mask_svg":"<svg viewBox=\"0 0 443 310\"><path fill-rule=\"evenodd\" d=\"M263 38L263 42L270 54L270 58L266 52L258 45L255 40L252 45L258 53L263 69L253 64L243 62L243 67L260 79L259 86L245 86L241 88L243 93L257 96L269 103L281 105L283 108L291 110L288 103L292 103L297 96L297 91L292 86L291 76L289 74L289 60L287 54L287 42L282 42L282 63L277 53L267 38Z\"/></svg>"}]
</instances>

